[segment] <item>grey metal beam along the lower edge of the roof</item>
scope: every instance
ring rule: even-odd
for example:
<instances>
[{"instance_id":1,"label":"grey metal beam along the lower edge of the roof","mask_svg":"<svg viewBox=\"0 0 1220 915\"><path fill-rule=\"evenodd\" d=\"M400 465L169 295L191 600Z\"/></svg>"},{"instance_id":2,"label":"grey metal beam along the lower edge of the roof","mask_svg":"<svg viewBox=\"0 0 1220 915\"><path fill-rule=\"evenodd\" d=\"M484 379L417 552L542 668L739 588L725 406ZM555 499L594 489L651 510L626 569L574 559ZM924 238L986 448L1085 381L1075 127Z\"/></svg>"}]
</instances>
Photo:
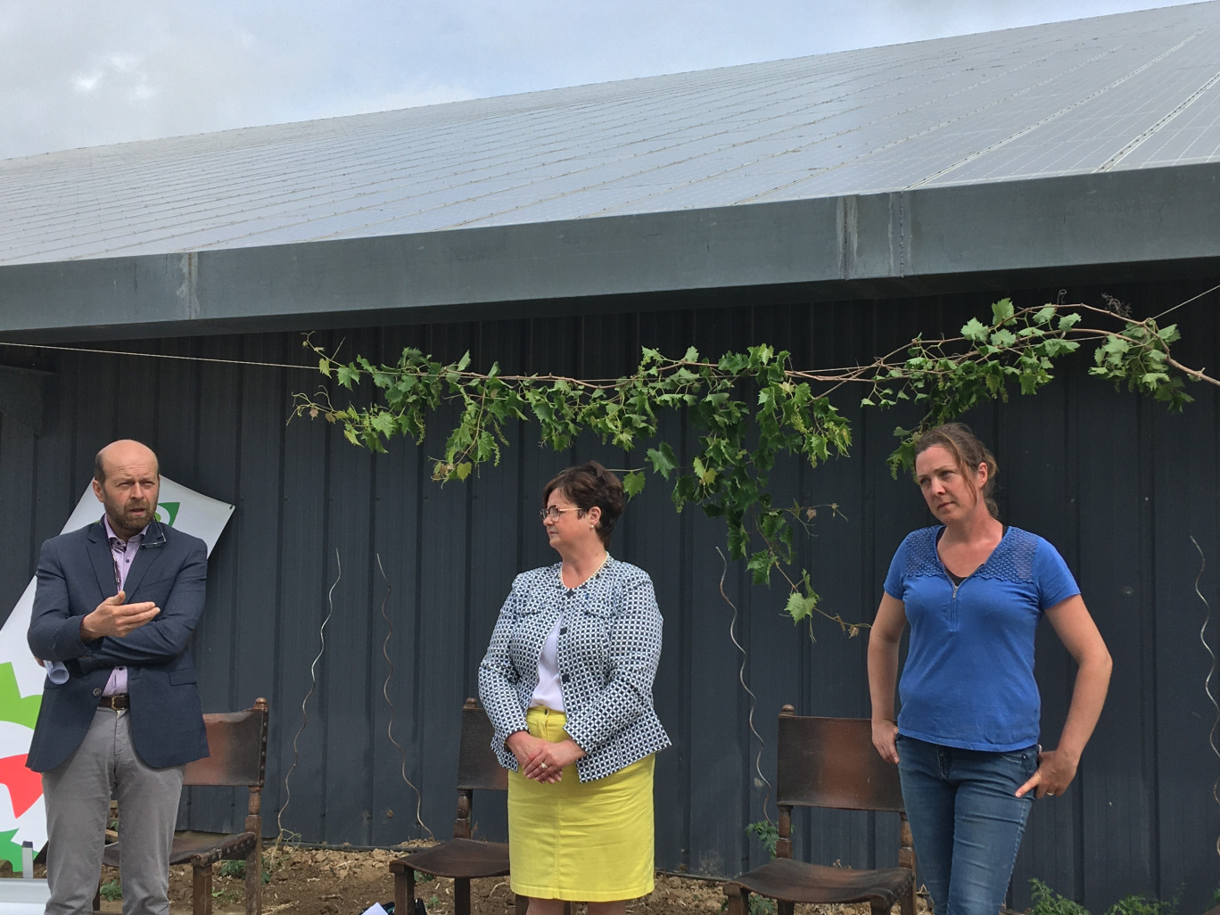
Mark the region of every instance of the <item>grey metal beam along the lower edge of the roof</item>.
<instances>
[{"instance_id":1,"label":"grey metal beam along the lower edge of the roof","mask_svg":"<svg viewBox=\"0 0 1220 915\"><path fill-rule=\"evenodd\" d=\"M1220 260L1220 163L0 267L0 338L412 323L726 289ZM844 295L844 292L847 293Z\"/></svg>"}]
</instances>

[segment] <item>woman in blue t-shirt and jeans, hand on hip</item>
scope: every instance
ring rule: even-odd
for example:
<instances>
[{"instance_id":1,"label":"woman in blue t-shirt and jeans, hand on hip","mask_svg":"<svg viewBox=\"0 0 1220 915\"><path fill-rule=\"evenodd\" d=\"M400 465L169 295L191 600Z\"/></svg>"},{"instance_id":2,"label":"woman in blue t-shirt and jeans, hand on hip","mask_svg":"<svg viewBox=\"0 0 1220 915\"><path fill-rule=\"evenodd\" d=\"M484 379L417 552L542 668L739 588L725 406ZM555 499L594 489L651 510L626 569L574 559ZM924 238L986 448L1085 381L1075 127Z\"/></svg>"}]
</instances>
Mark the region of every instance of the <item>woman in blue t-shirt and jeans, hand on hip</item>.
<instances>
[{"instance_id":1,"label":"woman in blue t-shirt and jeans, hand on hip","mask_svg":"<svg viewBox=\"0 0 1220 915\"><path fill-rule=\"evenodd\" d=\"M898 547L869 636L872 742L898 764L937 915L999 911L1033 798L1063 794L1075 777L1110 682L1110 654L1063 558L996 518L996 472L961 423L920 437L915 478L939 525ZM1080 665L1059 744L1046 752L1033 678L1043 616Z\"/></svg>"}]
</instances>

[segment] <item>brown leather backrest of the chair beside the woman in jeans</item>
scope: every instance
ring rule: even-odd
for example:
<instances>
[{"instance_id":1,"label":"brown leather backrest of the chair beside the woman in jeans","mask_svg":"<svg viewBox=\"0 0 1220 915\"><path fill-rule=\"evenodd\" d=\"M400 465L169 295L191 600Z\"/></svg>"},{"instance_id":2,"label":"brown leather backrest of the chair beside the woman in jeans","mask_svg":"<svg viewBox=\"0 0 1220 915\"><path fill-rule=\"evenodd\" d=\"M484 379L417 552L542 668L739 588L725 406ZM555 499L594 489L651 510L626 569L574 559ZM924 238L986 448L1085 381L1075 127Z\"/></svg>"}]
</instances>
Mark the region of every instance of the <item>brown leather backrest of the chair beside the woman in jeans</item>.
<instances>
[{"instance_id":1,"label":"brown leather backrest of the chair beside the woman in jeans","mask_svg":"<svg viewBox=\"0 0 1220 915\"><path fill-rule=\"evenodd\" d=\"M780 712L776 803L792 806L903 813L898 766L872 745L867 719Z\"/></svg>"}]
</instances>

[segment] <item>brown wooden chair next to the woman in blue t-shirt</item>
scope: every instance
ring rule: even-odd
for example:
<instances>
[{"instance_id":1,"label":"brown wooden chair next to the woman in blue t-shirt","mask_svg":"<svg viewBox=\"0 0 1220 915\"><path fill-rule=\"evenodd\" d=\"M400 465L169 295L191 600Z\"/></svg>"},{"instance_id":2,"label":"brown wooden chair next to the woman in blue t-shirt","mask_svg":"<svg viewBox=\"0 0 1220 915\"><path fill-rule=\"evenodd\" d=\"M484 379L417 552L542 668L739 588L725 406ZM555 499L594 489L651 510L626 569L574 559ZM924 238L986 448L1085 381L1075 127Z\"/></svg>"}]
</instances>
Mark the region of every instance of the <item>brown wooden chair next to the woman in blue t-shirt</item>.
<instances>
[{"instance_id":1,"label":"brown wooden chair next to the woman in blue t-shirt","mask_svg":"<svg viewBox=\"0 0 1220 915\"><path fill-rule=\"evenodd\" d=\"M780 915L795 903L869 903L874 915L888 915L895 902L915 915L915 850L898 784L898 767L872 745L866 719L816 719L780 712L776 805L780 841L776 858L725 883L728 915L749 911L749 894L775 899ZM792 860L792 809L886 810L900 816L898 867L852 870Z\"/></svg>"}]
</instances>

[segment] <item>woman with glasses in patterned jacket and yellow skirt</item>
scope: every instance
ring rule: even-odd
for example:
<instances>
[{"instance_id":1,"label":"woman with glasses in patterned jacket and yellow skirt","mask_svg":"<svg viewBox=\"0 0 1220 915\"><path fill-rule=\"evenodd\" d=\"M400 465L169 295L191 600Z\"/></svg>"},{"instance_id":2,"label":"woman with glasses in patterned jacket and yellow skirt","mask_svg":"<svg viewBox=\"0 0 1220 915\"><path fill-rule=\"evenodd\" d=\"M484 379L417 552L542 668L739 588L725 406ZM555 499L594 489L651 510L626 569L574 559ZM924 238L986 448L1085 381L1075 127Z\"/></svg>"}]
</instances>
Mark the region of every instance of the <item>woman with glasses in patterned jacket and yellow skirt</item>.
<instances>
[{"instance_id":1,"label":"woman with glasses in patterned jacket and yellow skirt","mask_svg":"<svg viewBox=\"0 0 1220 915\"><path fill-rule=\"evenodd\" d=\"M500 609L478 694L509 775L509 881L529 915L584 902L622 915L653 892L653 711L661 614L648 575L609 553L619 478L597 461L543 489L560 561L523 572Z\"/></svg>"}]
</instances>

